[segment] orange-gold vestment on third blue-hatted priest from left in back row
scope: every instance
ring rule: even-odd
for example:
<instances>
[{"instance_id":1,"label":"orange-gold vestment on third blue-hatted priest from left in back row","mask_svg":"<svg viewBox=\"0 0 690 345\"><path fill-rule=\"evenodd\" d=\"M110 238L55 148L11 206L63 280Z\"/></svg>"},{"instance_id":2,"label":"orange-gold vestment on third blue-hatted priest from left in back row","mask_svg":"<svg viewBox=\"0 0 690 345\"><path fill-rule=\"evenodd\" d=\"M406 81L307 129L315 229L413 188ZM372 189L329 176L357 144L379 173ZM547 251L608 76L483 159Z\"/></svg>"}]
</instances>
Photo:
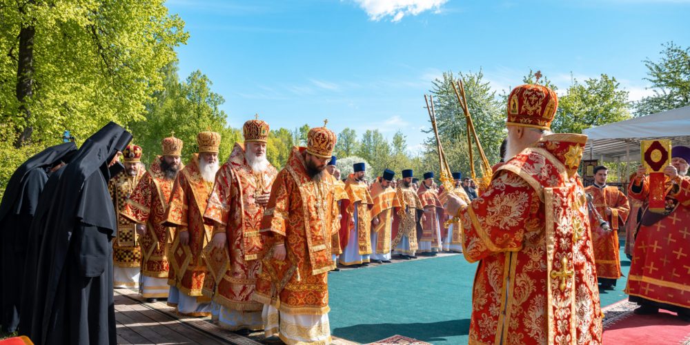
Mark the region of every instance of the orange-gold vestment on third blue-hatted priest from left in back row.
<instances>
[{"instance_id":1,"label":"orange-gold vestment on third blue-hatted priest from left in back row","mask_svg":"<svg viewBox=\"0 0 690 345\"><path fill-rule=\"evenodd\" d=\"M371 244L373 253L391 253L391 230L393 229L393 214L400 210L400 200L397 199L395 189L383 188L380 182L371 186L371 219L378 217L379 224L373 226L373 232L377 233L376 243ZM373 225L373 224L372 224Z\"/></svg>"}]
</instances>

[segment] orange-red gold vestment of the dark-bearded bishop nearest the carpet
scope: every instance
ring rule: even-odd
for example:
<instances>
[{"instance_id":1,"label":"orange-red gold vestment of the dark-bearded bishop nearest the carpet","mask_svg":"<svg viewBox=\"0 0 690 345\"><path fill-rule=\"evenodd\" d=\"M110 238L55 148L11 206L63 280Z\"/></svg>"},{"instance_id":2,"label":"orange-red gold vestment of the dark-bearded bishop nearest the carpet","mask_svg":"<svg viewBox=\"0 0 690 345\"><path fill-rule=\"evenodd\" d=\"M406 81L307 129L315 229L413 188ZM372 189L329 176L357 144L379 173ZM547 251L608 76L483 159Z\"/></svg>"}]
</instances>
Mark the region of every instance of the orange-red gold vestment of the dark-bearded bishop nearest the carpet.
<instances>
[{"instance_id":1,"label":"orange-red gold vestment of the dark-bearded bishop nearest the carpet","mask_svg":"<svg viewBox=\"0 0 690 345\"><path fill-rule=\"evenodd\" d=\"M293 148L278 172L262 220L270 248L257 276L254 299L292 315L328 313L328 271L335 268L331 235L339 214L333 179L314 181L306 171L306 148ZM285 260L273 259L273 244L285 244Z\"/></svg>"}]
</instances>

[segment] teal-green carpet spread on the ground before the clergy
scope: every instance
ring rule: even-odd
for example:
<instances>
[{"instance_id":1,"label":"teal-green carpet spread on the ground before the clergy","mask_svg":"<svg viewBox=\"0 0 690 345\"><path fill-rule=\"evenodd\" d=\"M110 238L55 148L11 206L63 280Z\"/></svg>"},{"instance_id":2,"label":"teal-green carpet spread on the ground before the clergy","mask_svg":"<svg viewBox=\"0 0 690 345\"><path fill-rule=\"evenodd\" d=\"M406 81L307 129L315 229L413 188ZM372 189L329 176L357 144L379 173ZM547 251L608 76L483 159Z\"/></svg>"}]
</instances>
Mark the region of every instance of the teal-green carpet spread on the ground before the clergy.
<instances>
[{"instance_id":1,"label":"teal-green carpet spread on the ground before the clergy","mask_svg":"<svg viewBox=\"0 0 690 345\"><path fill-rule=\"evenodd\" d=\"M630 262L621 257L627 275ZM331 333L360 343L397 334L467 344L476 268L454 255L330 273ZM602 292L602 306L626 298L625 284L619 279L615 290Z\"/></svg>"}]
</instances>

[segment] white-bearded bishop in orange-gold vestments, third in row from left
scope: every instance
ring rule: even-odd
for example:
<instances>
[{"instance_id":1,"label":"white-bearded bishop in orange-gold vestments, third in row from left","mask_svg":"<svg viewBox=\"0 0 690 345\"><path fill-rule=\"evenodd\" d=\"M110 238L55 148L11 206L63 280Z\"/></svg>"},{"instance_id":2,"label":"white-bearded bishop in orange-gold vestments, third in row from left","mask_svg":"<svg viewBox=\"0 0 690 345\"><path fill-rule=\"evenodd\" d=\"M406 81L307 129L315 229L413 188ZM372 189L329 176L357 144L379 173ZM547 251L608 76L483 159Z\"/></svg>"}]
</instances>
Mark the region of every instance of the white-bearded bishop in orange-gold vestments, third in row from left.
<instances>
[{"instance_id":1,"label":"white-bearded bishop in orange-gold vestments, third in row from left","mask_svg":"<svg viewBox=\"0 0 690 345\"><path fill-rule=\"evenodd\" d=\"M201 250L210 242L213 227L204 224L204 211L218 171L217 132L197 135L199 152L177 174L164 225L175 227L170 246L168 303L177 304L177 313L199 317L210 315L210 299L201 290L208 276Z\"/></svg>"}]
</instances>

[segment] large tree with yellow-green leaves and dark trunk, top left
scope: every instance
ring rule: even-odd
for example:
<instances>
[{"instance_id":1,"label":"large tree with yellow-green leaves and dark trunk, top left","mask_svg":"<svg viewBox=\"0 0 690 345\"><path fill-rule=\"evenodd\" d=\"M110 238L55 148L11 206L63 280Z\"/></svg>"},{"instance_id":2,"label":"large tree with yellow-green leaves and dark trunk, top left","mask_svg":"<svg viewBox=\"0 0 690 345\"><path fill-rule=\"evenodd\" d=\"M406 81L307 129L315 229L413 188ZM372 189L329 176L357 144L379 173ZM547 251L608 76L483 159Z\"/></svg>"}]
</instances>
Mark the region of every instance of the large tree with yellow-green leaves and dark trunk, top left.
<instances>
[{"instance_id":1,"label":"large tree with yellow-green leaves and dark trunk, top left","mask_svg":"<svg viewBox=\"0 0 690 345\"><path fill-rule=\"evenodd\" d=\"M0 18L0 116L17 148L143 119L188 37L163 0L3 1Z\"/></svg>"}]
</instances>

